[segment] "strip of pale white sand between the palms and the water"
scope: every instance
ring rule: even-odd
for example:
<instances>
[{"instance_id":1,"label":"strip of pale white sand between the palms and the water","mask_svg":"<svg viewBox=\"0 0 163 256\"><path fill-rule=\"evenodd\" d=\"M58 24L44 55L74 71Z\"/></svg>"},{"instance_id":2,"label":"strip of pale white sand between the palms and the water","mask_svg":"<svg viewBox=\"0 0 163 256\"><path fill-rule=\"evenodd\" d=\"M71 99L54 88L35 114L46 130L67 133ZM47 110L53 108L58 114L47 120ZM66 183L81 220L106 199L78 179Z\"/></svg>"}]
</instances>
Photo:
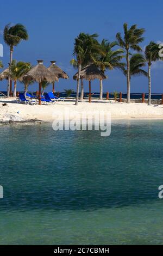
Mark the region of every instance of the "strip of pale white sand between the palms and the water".
<instances>
[{"instance_id":1,"label":"strip of pale white sand between the palms and the water","mask_svg":"<svg viewBox=\"0 0 163 256\"><path fill-rule=\"evenodd\" d=\"M3 106L7 103L7 106ZM74 105L74 100L65 100L57 102L55 105L25 105L16 103L16 99L1 99L0 101L0 121L5 119L29 120L39 119L43 121L54 120L56 113L77 111L77 115L84 112L91 113L105 111L111 113L112 119L163 119L163 105L147 106L146 103L109 103L106 100L92 100L91 103L84 101L79 102L78 106Z\"/></svg>"}]
</instances>

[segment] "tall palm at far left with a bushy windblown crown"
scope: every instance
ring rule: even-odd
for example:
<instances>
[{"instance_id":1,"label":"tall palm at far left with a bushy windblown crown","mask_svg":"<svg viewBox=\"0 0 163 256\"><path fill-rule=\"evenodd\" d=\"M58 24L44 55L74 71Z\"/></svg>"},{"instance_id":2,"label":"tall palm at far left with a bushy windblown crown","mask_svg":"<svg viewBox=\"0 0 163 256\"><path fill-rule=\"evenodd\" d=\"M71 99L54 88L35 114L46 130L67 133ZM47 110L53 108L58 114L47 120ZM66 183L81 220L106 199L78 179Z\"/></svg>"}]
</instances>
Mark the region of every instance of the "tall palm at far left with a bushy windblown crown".
<instances>
[{"instance_id":1,"label":"tall palm at far left with a bushy windblown crown","mask_svg":"<svg viewBox=\"0 0 163 256\"><path fill-rule=\"evenodd\" d=\"M14 46L17 46L21 40L28 40L27 29L20 23L14 26L10 26L10 23L5 26L3 33L4 41L10 47L10 65L12 62L12 53L14 51ZM10 66L9 66L10 73ZM8 80L8 97L10 96L10 78Z\"/></svg>"}]
</instances>

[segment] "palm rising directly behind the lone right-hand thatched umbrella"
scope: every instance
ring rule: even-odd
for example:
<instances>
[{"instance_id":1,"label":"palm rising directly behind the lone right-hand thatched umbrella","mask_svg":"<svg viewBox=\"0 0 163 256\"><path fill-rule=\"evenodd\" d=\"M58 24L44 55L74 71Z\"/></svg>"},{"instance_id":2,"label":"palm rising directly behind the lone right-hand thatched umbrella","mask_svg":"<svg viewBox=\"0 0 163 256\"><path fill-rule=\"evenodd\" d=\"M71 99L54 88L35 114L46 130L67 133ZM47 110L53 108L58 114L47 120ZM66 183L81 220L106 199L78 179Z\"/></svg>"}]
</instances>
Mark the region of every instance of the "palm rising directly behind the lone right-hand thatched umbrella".
<instances>
[{"instance_id":1,"label":"palm rising directly behind the lone right-hand thatched umbrella","mask_svg":"<svg viewBox=\"0 0 163 256\"><path fill-rule=\"evenodd\" d=\"M121 68L123 63L120 63L120 60L123 58L122 49L112 50L113 47L117 46L116 41L109 42L108 40L103 39L101 42L101 53L97 55L97 60L93 58L93 62L99 66L102 72L105 72L106 69L112 70L115 68ZM99 99L103 99L103 81L100 80L100 93Z\"/></svg>"}]
</instances>

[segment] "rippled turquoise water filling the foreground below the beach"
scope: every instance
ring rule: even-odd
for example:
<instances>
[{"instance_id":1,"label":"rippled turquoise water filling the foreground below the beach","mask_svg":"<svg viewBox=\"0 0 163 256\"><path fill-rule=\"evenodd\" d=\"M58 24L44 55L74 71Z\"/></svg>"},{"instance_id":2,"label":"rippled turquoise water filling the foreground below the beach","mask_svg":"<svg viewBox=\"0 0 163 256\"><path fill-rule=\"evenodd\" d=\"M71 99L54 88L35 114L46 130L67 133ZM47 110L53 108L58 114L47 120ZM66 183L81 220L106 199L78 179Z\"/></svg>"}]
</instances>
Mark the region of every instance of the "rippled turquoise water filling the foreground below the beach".
<instances>
[{"instance_id":1,"label":"rippled turquoise water filling the foreground below the beach","mask_svg":"<svg viewBox=\"0 0 163 256\"><path fill-rule=\"evenodd\" d=\"M163 244L163 121L0 126L1 245Z\"/></svg>"}]
</instances>

